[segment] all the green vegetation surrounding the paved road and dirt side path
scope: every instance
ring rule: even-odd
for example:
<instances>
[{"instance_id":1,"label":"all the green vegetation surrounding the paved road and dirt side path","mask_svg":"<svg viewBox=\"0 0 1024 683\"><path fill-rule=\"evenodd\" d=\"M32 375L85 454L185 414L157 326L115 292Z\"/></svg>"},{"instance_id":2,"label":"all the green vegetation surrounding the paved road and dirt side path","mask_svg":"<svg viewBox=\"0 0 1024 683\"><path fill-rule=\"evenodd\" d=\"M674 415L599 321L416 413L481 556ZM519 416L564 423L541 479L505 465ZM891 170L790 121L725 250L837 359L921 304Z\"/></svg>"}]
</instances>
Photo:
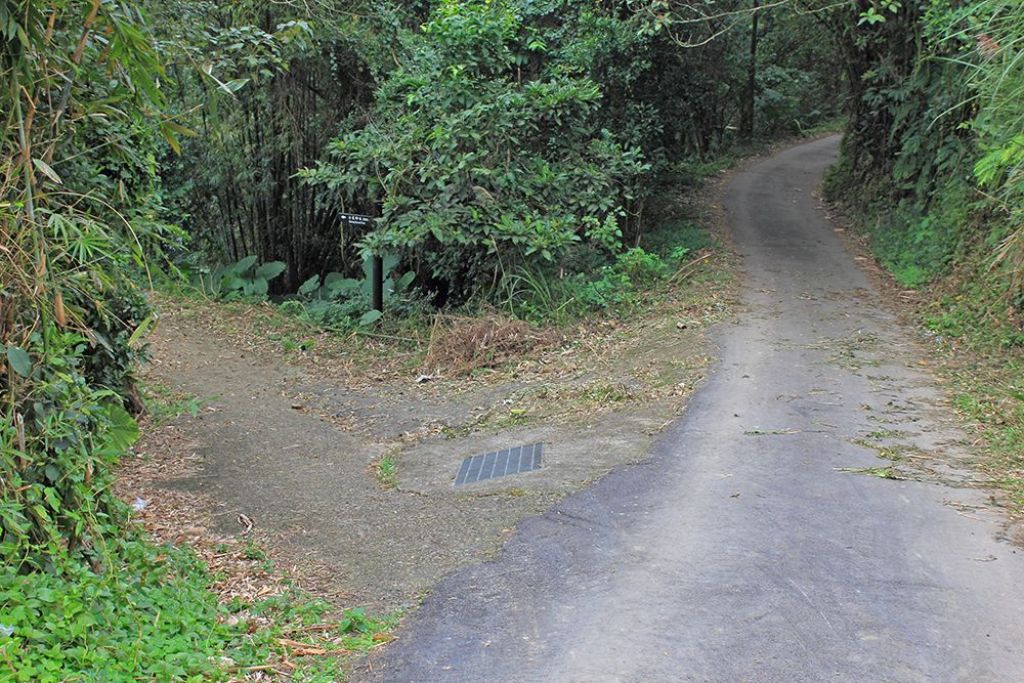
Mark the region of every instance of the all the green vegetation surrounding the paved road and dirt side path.
<instances>
[{"instance_id":1,"label":"all the green vegetation surrounding the paved road and dirt side path","mask_svg":"<svg viewBox=\"0 0 1024 683\"><path fill-rule=\"evenodd\" d=\"M388 639L258 545L175 542L118 498L146 403L152 427L206 400L139 386L160 306L353 372L494 370L724 276L687 194L847 112L833 196L931 284L943 343L991 358L958 404L1021 500L1024 29L954 5L0 5L0 681L338 680ZM246 571L276 589L232 595Z\"/></svg>"}]
</instances>

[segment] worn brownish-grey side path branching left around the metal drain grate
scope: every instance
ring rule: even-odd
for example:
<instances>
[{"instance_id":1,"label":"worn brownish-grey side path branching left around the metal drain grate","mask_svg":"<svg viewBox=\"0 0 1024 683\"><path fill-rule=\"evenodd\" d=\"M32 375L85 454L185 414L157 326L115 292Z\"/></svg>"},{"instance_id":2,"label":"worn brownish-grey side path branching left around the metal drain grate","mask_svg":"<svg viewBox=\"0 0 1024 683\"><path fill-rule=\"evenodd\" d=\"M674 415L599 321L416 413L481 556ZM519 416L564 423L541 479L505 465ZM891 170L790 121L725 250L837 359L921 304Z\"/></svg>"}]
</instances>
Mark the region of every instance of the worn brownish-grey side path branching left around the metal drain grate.
<instances>
[{"instance_id":1,"label":"worn brownish-grey side path branching left around the metal drain grate","mask_svg":"<svg viewBox=\"0 0 1024 683\"><path fill-rule=\"evenodd\" d=\"M415 372L353 381L301 353L283 362L269 331L240 343L217 322L222 307L168 305L147 380L203 408L148 430L140 452L156 476L125 495L171 490L178 508L183 496L217 535L240 533L243 514L288 564L316 565L314 587L346 606L411 606L493 557L524 516L645 457L710 362L700 318L722 304L694 296L494 377L422 383ZM538 442L541 471L453 486L464 458ZM382 457L394 486L375 475Z\"/></svg>"}]
</instances>

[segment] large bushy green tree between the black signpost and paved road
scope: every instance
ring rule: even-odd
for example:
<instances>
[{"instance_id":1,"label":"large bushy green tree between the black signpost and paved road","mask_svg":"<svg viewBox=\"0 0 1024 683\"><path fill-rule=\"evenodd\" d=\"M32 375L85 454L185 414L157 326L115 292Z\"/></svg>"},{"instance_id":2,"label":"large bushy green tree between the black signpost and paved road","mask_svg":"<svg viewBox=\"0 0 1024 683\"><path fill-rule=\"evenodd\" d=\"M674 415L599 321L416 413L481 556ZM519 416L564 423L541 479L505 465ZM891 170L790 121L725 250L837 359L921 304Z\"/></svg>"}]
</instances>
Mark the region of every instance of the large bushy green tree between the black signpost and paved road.
<instances>
[{"instance_id":1,"label":"large bushy green tree between the black signpost and paved road","mask_svg":"<svg viewBox=\"0 0 1024 683\"><path fill-rule=\"evenodd\" d=\"M577 26L532 26L570 11L441 3L409 38L408 62L382 84L371 123L332 144L336 165L306 177L343 205L380 207L368 248L411 254L460 290L496 263L553 261L582 240L617 250L648 166L601 126L603 90L588 72L615 36L586 12L575 20L597 35L581 42L560 44L559 33L580 38Z\"/></svg>"}]
</instances>

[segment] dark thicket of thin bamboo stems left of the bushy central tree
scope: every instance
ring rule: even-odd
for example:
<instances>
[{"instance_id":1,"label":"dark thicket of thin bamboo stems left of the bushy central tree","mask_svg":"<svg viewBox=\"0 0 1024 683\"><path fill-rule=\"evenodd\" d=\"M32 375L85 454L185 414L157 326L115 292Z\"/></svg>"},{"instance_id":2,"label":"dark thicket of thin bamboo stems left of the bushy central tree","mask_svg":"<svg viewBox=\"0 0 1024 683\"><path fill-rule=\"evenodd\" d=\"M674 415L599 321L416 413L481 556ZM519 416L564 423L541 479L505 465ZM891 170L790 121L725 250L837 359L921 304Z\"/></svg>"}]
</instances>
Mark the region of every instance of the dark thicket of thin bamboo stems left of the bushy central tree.
<instances>
[{"instance_id":1,"label":"dark thicket of thin bamboo stems left of the bushy central tree","mask_svg":"<svg viewBox=\"0 0 1024 683\"><path fill-rule=\"evenodd\" d=\"M161 160L166 201L190 249L223 263L285 262L283 290L347 253L336 215L295 172L373 92L356 50L383 37L350 18L349 5L147 3L175 79L169 106L193 131Z\"/></svg>"}]
</instances>

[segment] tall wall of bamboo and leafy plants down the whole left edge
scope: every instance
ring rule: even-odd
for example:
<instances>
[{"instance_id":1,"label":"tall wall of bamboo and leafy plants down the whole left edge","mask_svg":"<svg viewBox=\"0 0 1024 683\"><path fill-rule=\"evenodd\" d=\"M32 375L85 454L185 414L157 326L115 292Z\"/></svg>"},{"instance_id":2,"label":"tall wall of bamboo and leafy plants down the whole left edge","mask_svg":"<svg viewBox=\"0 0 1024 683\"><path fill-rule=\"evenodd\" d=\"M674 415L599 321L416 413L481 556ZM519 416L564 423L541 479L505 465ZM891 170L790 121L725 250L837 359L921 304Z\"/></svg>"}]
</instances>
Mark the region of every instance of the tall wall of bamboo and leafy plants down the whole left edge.
<instances>
[{"instance_id":1,"label":"tall wall of bamboo and leafy plants down the whole left edge","mask_svg":"<svg viewBox=\"0 0 1024 683\"><path fill-rule=\"evenodd\" d=\"M5 681L210 668L212 645L198 642L208 629L196 627L215 624L212 596L123 541L127 509L111 493L137 436L126 408L137 407L137 337L151 315L132 274L166 232L155 160L173 126L160 116L160 75L127 5L0 5ZM179 575L195 570L182 561Z\"/></svg>"}]
</instances>

